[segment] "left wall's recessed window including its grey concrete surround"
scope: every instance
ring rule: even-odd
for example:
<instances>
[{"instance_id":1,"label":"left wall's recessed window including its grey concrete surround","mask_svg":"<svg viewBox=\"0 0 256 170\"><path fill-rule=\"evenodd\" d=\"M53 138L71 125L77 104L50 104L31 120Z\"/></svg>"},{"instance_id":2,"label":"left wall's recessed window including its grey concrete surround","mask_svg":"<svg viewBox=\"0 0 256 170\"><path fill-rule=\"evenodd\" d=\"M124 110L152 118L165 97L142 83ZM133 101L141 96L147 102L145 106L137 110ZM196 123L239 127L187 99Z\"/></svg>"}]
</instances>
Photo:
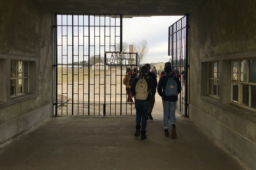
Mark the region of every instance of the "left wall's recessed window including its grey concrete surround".
<instances>
[{"instance_id":1,"label":"left wall's recessed window including its grey concrete surround","mask_svg":"<svg viewBox=\"0 0 256 170\"><path fill-rule=\"evenodd\" d=\"M0 108L37 97L37 60L0 54Z\"/></svg>"}]
</instances>

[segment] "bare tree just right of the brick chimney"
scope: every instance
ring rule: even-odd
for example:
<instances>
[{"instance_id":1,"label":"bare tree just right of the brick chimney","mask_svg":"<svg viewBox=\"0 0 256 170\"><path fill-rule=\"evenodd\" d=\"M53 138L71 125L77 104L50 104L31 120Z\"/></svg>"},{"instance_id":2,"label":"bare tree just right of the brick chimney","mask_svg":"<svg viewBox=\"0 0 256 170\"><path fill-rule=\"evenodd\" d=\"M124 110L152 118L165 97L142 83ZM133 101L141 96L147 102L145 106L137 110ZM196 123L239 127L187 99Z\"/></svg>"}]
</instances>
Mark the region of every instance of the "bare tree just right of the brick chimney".
<instances>
[{"instance_id":1,"label":"bare tree just right of the brick chimney","mask_svg":"<svg viewBox=\"0 0 256 170\"><path fill-rule=\"evenodd\" d=\"M145 59L145 55L148 53L148 42L147 40L142 40L141 42L133 42L134 52L138 53L138 66Z\"/></svg>"}]
</instances>

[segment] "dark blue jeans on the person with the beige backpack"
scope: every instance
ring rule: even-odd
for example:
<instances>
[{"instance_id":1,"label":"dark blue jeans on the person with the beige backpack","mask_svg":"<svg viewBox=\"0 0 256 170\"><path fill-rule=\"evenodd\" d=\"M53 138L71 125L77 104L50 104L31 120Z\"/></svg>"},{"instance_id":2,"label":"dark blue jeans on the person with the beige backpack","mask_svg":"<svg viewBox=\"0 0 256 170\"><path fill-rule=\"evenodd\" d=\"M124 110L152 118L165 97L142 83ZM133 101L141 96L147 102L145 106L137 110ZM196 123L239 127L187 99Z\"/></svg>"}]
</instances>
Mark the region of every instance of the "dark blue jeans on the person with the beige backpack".
<instances>
[{"instance_id":1,"label":"dark blue jeans on the person with the beige backpack","mask_svg":"<svg viewBox=\"0 0 256 170\"><path fill-rule=\"evenodd\" d=\"M136 126L140 126L141 123L141 131L146 131L150 100L135 100L134 104L136 109Z\"/></svg>"}]
</instances>

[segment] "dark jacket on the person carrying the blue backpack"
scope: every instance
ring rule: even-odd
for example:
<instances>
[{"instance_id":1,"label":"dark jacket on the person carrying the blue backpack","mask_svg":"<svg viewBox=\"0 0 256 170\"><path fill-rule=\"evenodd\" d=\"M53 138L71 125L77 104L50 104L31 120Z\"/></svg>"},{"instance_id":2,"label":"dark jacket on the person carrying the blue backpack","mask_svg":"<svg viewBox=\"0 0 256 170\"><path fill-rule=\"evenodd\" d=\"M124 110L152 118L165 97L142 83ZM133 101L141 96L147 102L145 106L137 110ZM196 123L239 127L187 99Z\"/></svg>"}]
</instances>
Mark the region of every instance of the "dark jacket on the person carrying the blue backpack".
<instances>
[{"instance_id":1,"label":"dark jacket on the person carrying the blue backpack","mask_svg":"<svg viewBox=\"0 0 256 170\"><path fill-rule=\"evenodd\" d=\"M170 73L168 75L169 78L172 78L173 76L174 75L172 73ZM173 79L177 83L177 90L178 90L178 94L179 94L182 90L180 80L176 76L174 76ZM163 75L159 79L158 86L157 86L157 93L162 97L162 100L169 101L169 102L176 102L178 100L178 96L166 96L165 95L164 89L165 89L165 86L167 84L167 81L168 81L168 78L167 78L166 74Z\"/></svg>"}]
</instances>

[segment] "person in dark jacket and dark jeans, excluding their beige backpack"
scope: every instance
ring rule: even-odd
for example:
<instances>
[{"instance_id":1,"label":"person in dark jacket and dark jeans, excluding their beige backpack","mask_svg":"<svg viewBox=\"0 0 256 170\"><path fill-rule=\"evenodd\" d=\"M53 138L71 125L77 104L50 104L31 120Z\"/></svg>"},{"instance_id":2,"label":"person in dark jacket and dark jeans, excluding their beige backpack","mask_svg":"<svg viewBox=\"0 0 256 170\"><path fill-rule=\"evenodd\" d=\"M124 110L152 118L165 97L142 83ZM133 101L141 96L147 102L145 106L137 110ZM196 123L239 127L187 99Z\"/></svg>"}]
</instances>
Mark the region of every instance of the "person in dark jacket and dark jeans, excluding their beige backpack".
<instances>
[{"instance_id":1,"label":"person in dark jacket and dark jeans, excluding their beige backpack","mask_svg":"<svg viewBox=\"0 0 256 170\"><path fill-rule=\"evenodd\" d=\"M155 95L156 93L156 85L154 80L151 77L148 77L148 67L142 66L141 67L141 72L142 74L139 77L136 77L131 86L131 92L134 96L135 99L135 108L136 108L136 132L134 136L139 136L140 135L140 128L141 128L141 140L144 140L146 136L146 127L147 127L147 114L148 114L148 109L150 107L150 97L152 95ZM139 81L141 77L144 77L144 79L147 82L148 89L148 97L146 100L137 100L136 99L136 84ZM141 126L140 126L141 124Z\"/></svg>"}]
</instances>

